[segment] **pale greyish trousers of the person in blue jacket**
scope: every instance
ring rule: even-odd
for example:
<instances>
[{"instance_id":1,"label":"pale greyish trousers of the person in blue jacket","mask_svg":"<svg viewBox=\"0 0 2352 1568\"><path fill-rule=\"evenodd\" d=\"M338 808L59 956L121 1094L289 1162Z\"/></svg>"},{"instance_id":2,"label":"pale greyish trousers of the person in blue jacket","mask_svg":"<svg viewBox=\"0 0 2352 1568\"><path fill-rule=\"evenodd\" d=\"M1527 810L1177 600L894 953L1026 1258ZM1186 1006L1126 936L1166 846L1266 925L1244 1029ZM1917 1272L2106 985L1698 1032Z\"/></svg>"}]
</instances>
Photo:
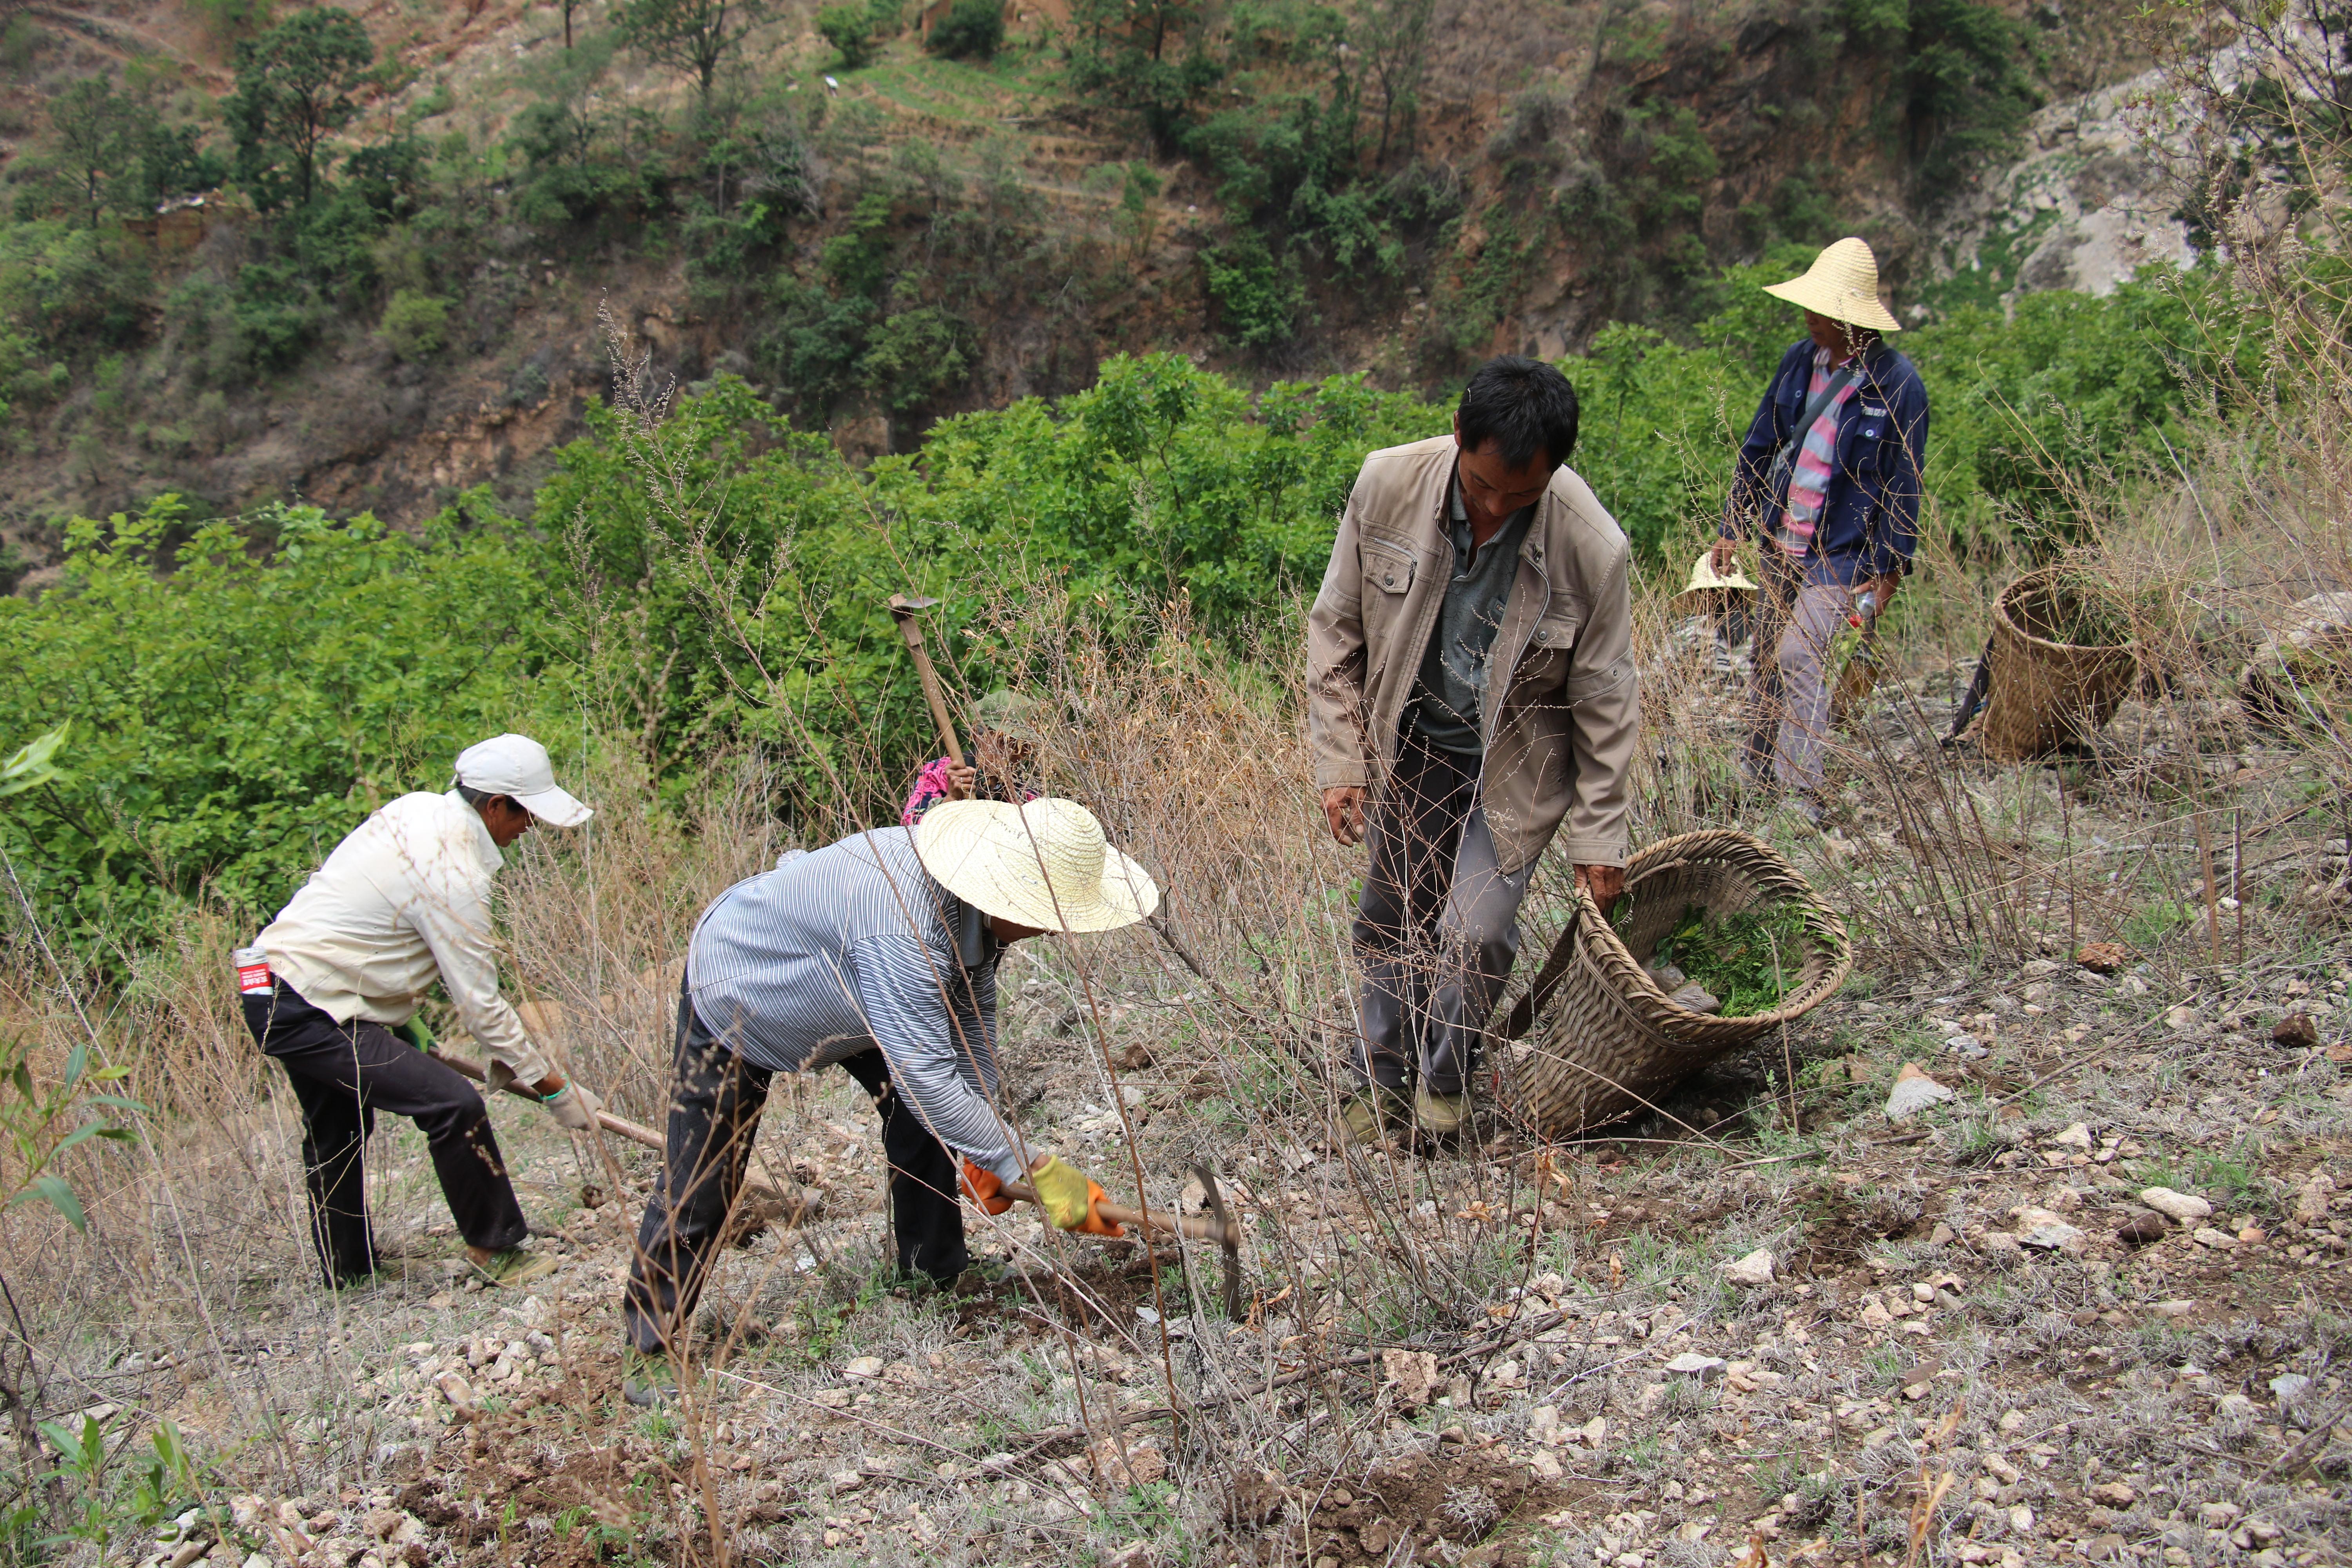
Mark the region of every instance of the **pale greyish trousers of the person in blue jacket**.
<instances>
[{"instance_id":1,"label":"pale greyish trousers of the person in blue jacket","mask_svg":"<svg viewBox=\"0 0 2352 1568\"><path fill-rule=\"evenodd\" d=\"M1837 581L1835 562L1790 557L1764 543L1743 752L1750 778L1769 776L1785 790L1820 795L1830 748L1830 639L1851 609L1853 590Z\"/></svg>"}]
</instances>

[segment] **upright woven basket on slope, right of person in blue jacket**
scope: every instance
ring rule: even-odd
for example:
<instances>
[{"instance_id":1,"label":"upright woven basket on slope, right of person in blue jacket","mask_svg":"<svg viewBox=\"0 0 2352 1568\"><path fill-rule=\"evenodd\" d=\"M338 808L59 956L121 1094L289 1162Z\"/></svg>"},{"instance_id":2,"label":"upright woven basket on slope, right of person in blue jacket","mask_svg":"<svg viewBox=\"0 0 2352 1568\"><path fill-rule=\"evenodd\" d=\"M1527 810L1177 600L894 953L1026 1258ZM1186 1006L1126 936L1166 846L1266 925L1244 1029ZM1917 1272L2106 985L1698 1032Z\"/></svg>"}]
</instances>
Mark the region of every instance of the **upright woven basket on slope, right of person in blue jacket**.
<instances>
[{"instance_id":1,"label":"upright woven basket on slope, right of person in blue jacket","mask_svg":"<svg viewBox=\"0 0 2352 1568\"><path fill-rule=\"evenodd\" d=\"M2002 590L1992 607L1992 703L1985 755L2027 762L2086 743L2114 717L2140 668L2131 642L2053 642L2058 599L2082 592L2079 569L2044 567Z\"/></svg>"}]
</instances>

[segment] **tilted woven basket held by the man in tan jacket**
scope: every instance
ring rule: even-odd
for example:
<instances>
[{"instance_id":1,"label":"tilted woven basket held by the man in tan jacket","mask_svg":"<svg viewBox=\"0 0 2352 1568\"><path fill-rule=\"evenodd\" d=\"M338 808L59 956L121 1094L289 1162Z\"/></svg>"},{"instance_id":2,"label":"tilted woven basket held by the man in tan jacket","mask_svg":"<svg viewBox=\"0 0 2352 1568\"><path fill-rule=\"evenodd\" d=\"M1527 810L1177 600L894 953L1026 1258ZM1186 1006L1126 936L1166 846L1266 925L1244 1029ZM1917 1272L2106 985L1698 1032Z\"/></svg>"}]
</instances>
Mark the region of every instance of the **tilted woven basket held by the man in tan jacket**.
<instances>
[{"instance_id":1,"label":"tilted woven basket held by the man in tan jacket","mask_svg":"<svg viewBox=\"0 0 2352 1568\"><path fill-rule=\"evenodd\" d=\"M1769 844L1729 827L1651 844L1625 865L1625 938L1576 891L1573 945L1557 947L1522 1009L1534 1030L1510 1056L1510 1100L1545 1138L1573 1138L1653 1105L1672 1084L1802 1018L1853 969L1844 922ZM1642 964L1696 905L1712 917L1757 903L1804 912L1804 952L1778 1009L1750 1018L1691 1013ZM1534 1004L1534 1006L1529 1006ZM1512 1020L1515 1025L1522 1018Z\"/></svg>"}]
</instances>

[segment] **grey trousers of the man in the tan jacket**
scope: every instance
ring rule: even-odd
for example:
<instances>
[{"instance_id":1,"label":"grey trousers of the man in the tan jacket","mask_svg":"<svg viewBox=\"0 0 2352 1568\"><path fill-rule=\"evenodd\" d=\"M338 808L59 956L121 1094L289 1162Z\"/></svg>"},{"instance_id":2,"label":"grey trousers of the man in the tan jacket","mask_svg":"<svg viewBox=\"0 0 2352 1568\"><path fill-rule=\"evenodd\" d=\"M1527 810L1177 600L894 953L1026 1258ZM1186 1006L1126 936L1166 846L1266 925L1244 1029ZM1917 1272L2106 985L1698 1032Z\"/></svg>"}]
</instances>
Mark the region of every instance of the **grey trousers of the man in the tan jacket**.
<instances>
[{"instance_id":1,"label":"grey trousers of the man in the tan jacket","mask_svg":"<svg viewBox=\"0 0 2352 1568\"><path fill-rule=\"evenodd\" d=\"M1519 957L1519 900L1534 860L1496 867L1477 759L1406 729L1397 769L1367 813L1371 875L1355 907L1364 969L1355 1072L1381 1088L1421 1074L1430 1093L1463 1093L1486 1018Z\"/></svg>"}]
</instances>

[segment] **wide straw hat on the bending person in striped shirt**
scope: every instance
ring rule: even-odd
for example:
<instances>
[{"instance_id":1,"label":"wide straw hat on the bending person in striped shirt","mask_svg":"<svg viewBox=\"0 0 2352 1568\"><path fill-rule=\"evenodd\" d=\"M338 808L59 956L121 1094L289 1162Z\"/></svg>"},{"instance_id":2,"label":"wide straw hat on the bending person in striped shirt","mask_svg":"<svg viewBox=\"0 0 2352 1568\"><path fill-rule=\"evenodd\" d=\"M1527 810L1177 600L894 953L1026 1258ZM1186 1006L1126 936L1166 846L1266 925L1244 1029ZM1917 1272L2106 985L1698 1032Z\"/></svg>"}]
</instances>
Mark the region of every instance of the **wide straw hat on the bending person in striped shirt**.
<instances>
[{"instance_id":1,"label":"wide straw hat on the bending person in striped shirt","mask_svg":"<svg viewBox=\"0 0 2352 1568\"><path fill-rule=\"evenodd\" d=\"M1040 931L1117 931L1160 907L1152 875L1075 799L950 799L915 827L922 870L985 914Z\"/></svg>"}]
</instances>

